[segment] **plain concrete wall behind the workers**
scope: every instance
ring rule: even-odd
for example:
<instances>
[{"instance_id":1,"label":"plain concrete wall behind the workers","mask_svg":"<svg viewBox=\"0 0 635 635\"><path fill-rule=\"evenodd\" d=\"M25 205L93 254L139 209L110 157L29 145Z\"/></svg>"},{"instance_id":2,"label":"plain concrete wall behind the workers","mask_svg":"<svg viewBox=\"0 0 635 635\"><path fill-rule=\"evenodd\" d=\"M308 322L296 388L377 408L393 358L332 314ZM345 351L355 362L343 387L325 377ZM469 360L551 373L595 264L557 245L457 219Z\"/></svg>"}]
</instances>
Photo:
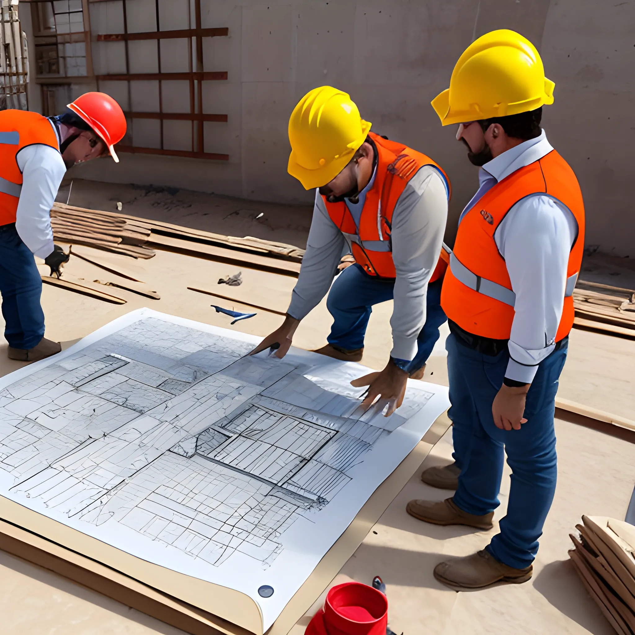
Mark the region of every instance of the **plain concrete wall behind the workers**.
<instances>
[{"instance_id":1,"label":"plain concrete wall behind the workers","mask_svg":"<svg viewBox=\"0 0 635 635\"><path fill-rule=\"evenodd\" d=\"M128 0L133 4L137 0ZM110 3L98 3L107 5ZM453 184L448 241L477 187L476 168L442 128L430 100L460 53L492 29L518 30L556 83L545 108L552 145L576 171L588 213L586 243L635 257L635 3L598 0L202 0L204 27L229 27L207 49L214 82L211 152L229 163L123 155L74 175L164 184L267 201L311 201L286 173L288 117L321 84L349 91L373 130L431 155ZM166 28L162 25L162 28ZM93 52L97 55L97 51ZM207 143L206 143L207 145Z\"/></svg>"}]
</instances>

